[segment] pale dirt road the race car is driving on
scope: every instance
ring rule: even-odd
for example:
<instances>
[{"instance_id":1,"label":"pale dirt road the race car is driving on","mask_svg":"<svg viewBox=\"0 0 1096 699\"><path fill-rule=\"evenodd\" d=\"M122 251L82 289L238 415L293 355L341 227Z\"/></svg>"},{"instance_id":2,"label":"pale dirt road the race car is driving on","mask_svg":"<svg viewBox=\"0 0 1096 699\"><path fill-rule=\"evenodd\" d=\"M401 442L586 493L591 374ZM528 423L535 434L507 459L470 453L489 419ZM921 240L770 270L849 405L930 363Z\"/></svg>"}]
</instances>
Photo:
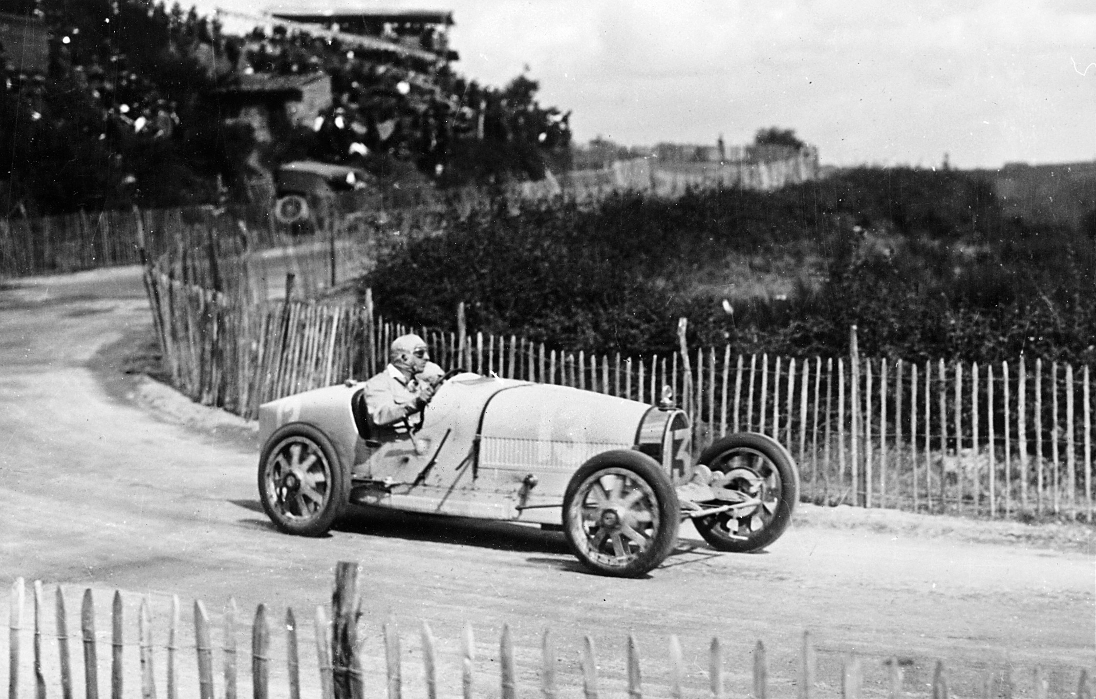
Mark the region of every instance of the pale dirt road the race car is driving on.
<instances>
[{"instance_id":1,"label":"pale dirt road the race car is driving on","mask_svg":"<svg viewBox=\"0 0 1096 699\"><path fill-rule=\"evenodd\" d=\"M603 657L603 689L614 695L623 692L628 633L650 658L644 681L658 695L669 681L671 634L684 649L690 696L706 692L712 635L724 644L732 695L749 691L761 639L776 696L794 696L804 629L819 646L823 695L840 688L840 664L853 652L871 690L882 687L883 661L900 656L905 688L920 696L935 658L946 660L952 690L964 696L980 695L981 673L1000 675L1006 665L1017 694L1028 695L1037 664L1047 668L1051 692L1065 696L1075 691L1077 669L1096 661L1093 539L1087 548L1012 542L1019 525L977 525L990 540L971 541L962 531L974 525L962 520L941 526L901 513L802 507L792 529L762 554L716 553L685 528L666 564L636 581L589 575L561 535L520 526L363 511L329 538L277 534L256 500L252 432L230 420L194 429L129 398L137 382L123 374L123 350L146 342L149 326L133 268L0 288L5 607L8 584L24 576L65 585L70 614L77 591L93 586L104 591L101 605L106 591L126 591L127 609L147 594L163 612L169 596L179 595L184 605L207 600L216 617L235 596L247 614L264 601L275 618L293 606L310 619L329 599L335 562L359 561L368 676L381 672L377 631L389 614L404 629L408 662L426 620L439 639L447 695L459 692L458 639L468 621L486 676L496 672L502 624L511 626L529 687L540 633L550 627L566 697L581 695L571 680L586 633ZM867 526L847 526L864 517ZM406 674L421 683L419 671ZM498 694L488 679L482 685L484 696ZM380 685L370 687L370 697L381 696Z\"/></svg>"}]
</instances>

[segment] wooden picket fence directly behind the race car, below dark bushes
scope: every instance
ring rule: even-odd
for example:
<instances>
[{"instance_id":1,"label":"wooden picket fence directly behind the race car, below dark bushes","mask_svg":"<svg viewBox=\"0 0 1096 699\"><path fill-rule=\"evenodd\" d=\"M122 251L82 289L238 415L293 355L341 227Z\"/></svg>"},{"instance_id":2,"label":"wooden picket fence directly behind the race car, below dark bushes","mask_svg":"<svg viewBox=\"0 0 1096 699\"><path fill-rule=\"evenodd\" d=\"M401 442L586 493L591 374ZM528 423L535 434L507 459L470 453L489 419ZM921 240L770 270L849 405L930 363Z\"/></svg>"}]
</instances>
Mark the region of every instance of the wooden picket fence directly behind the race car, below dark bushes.
<instances>
[{"instance_id":1,"label":"wooden picket fence directly behind the race car, below dark bushes","mask_svg":"<svg viewBox=\"0 0 1096 699\"><path fill-rule=\"evenodd\" d=\"M671 355L587 355L469 332L460 309L452 332L392 323L374 312L368 291L355 306L299 301L292 293L264 302L247 296L247 265L221 272L244 279L237 291L215 291L203 286L208 266L148 271L157 332L180 390L248 419L263 402L372 376L391 341L413 331L446 368L648 403L669 386L689 412L699 448L733 432L784 444L800 465L804 500L1093 520L1087 366L866 358L855 354L855 329L850 357L741 355L730 345L690 350L684 342Z\"/></svg>"}]
</instances>

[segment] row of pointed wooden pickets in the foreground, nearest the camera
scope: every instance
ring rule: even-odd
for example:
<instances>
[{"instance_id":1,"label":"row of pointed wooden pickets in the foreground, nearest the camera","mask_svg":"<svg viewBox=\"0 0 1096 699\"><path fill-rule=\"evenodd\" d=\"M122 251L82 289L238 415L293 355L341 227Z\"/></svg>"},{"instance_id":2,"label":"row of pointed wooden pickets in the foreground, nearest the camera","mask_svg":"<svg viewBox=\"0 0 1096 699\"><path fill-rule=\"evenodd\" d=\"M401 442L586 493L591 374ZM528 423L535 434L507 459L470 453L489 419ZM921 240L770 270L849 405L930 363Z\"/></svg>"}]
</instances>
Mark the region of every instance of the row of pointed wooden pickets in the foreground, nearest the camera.
<instances>
[{"instance_id":1,"label":"row of pointed wooden pickets in the foreground, nearest the camera","mask_svg":"<svg viewBox=\"0 0 1096 699\"><path fill-rule=\"evenodd\" d=\"M362 598L358 594L359 570L356 563L340 562L335 569L335 584L331 598L330 609L324 605L316 608L315 641L316 641L316 669L318 677L316 681L309 681L304 677L301 668L305 665L304 656L300 653L301 631L297 617L292 608L287 608L284 617L285 629L285 660L284 678L286 680L286 691L283 692L272 686L272 672L282 675L279 668L273 667L272 644L272 612L265 604L260 604L251 623L251 654L250 654L250 680L252 697L254 699L269 699L270 697L288 696L289 699L300 699L301 696L318 696L319 699L363 699L365 691L365 664L366 658L362 652L362 638L359 634L359 617L362 609ZM68 629L68 616L66 611L65 593L57 586L54 595L54 621L55 632L46 628L47 601L41 581L35 581L32 586L33 594L33 622L28 629L24 622L24 607L26 606L26 589L22 577L16 578L11 587L10 616L9 616L9 663L8 663L8 699L20 699L21 690L27 681L21 683L21 671L23 671L22 649L24 631L32 631L31 666L33 668L33 686L35 699L47 699L50 694L46 678L45 643L49 637L56 643L57 669L59 673L59 695L61 699L71 699L75 691L76 668L70 656L70 639L77 639L82 645L83 664L82 675L84 679L85 699L98 699L100 696L99 683L99 653L100 634L96 631L95 606L91 588L83 592L80 606L80 630L79 634L70 632ZM140 686L142 699L155 699L157 691L162 687L167 699L179 699L181 696L193 696L194 690L187 687L187 681L197 685L197 695L201 699L214 699L218 696L215 687L213 638L215 635L213 623L206 605L201 599L193 605L193 635L184 641L184 629L180 621L180 601L178 595L172 596L168 619L168 632L165 643L156 643L152 638L151 603L149 597L140 600L138 610L137 639L127 639L124 624L124 601L119 591L115 591L110 615L110 656L111 656L111 699L123 699L127 696L125 687L130 681L134 672L127 672L125 657L130 655L126 650L137 646L138 667L137 684ZM246 681L248 662L240 657L241 653L237 644L238 629L242 628L242 619L235 599L229 599L226 611L222 616L222 629L219 634L222 639L220 648L224 673L221 680L220 696L225 699L237 699L241 680ZM406 685L403 663L404 657L401 652L401 639L396 620L389 616L383 626L384 645L384 671L385 696L388 699L401 699ZM191 644L191 642L193 644ZM426 699L437 699L439 678L438 677L438 646L434 633L427 622L423 622L420 633L420 648L422 656L422 672ZM728 690L724 680L724 653L723 644L718 638L712 638L708 646L707 663L707 692L712 699L723 699L724 697L749 696L752 699L767 699L774 696L770 688L769 664L767 662L766 649L762 641L757 641L753 649L752 658L752 684L747 688L737 688ZM184 652L193 652L196 673L184 667ZM156 666L157 655L163 658L164 680L157 678ZM833 695L833 691L825 691L823 683L819 681L817 672L817 649L810 632L802 635L802 644L798 652L798 668L795 678L796 695L798 699L813 699L823 695ZM553 637L549 630L545 630L540 637L540 673L539 691L545 699L558 699L567 691L567 687L560 687L558 677L560 672L561 657L556 649ZM492 660L492 658L488 658ZM578 651L579 675L581 676L582 692L585 699L597 699L602 694L603 680L598 677L600 661L594 648L593 638L586 635L582 648ZM463 699L473 699L477 691L476 680L476 642L470 623L464 628L460 639L460 687ZM670 680L669 695L672 699L683 699L686 694L695 694L696 688L688 686L687 678L690 673L686 672L682 645L676 635L670 638L669 642L669 664ZM518 677L527 676L528 673L518 673L515 662L514 643L509 626L503 626L499 640L499 696L502 699L516 699L518 694L528 694L533 688L518 686ZM899 699L909 696L903 683L902 664L898 657L891 657L886 663L887 667L887 691L891 699ZM635 635L629 635L626 645L625 658L625 681L627 683L628 697L630 699L641 699L643 687L641 681L640 656ZM195 677L196 675L196 677ZM572 678L573 679L573 678ZM840 674L840 696L844 699L857 699L861 696L864 683L864 672L861 661L855 655L847 656L842 663ZM832 683L836 684L836 683ZM832 686L830 684L830 686ZM918 683L920 685L920 683ZM1017 689L1012 678L1012 666L1005 668L1003 677L995 674L984 676L982 681L984 698L1012 699L1014 690ZM1048 697L1048 673L1041 665L1037 665L1032 673L1031 691L1023 691L1034 699L1047 699ZM483 692L486 696L494 696L493 691ZM950 696L948 672L943 661L936 661L933 672L931 689L928 695L932 699L947 699ZM128 696L132 696L129 692ZM1078 672L1076 694L1066 692L1064 696L1074 696L1076 699L1093 699L1093 686L1086 669ZM23 696L30 696L25 692Z\"/></svg>"}]
</instances>

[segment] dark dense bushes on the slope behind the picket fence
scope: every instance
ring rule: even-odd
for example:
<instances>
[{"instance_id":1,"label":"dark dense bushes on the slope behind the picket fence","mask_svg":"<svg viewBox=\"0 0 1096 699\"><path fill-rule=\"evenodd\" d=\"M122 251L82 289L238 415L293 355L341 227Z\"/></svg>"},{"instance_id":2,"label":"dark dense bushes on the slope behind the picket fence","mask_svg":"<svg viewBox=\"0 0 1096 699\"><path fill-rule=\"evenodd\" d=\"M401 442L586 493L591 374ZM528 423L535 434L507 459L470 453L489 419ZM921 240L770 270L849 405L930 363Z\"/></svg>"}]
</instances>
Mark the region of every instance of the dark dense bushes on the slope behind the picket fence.
<instances>
[{"instance_id":1,"label":"dark dense bushes on the slope behind the picket fence","mask_svg":"<svg viewBox=\"0 0 1096 699\"><path fill-rule=\"evenodd\" d=\"M856 323L861 350L906 359L1091 359L1092 245L1004 217L980 177L865 168L773 193L482 209L363 284L414 324L453 329L465 301L472 328L594 352L673 351L687 317L692 343L742 352L836 355ZM780 260L799 270L786 298L737 293L743 264Z\"/></svg>"}]
</instances>

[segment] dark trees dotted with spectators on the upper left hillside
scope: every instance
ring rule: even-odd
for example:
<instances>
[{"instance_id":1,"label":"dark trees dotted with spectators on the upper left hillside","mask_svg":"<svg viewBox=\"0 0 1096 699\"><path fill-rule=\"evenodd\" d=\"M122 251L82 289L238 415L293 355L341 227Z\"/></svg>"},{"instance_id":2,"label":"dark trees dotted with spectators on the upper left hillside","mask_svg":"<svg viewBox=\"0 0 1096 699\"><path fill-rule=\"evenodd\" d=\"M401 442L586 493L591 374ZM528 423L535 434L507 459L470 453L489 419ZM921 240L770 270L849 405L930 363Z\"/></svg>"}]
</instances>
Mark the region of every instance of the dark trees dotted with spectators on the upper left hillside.
<instances>
[{"instance_id":1,"label":"dark trees dotted with spectators on the upper left hillside","mask_svg":"<svg viewBox=\"0 0 1096 699\"><path fill-rule=\"evenodd\" d=\"M441 186L539 179L563 167L569 114L521 75L481 85L448 64L275 28L247 37L152 0L25 0L43 16L49 69L15 69L0 43L0 216L35 217L244 199L249 177L297 158L386 177L415 169ZM317 124L271 144L222 108L247 72L331 76Z\"/></svg>"}]
</instances>

